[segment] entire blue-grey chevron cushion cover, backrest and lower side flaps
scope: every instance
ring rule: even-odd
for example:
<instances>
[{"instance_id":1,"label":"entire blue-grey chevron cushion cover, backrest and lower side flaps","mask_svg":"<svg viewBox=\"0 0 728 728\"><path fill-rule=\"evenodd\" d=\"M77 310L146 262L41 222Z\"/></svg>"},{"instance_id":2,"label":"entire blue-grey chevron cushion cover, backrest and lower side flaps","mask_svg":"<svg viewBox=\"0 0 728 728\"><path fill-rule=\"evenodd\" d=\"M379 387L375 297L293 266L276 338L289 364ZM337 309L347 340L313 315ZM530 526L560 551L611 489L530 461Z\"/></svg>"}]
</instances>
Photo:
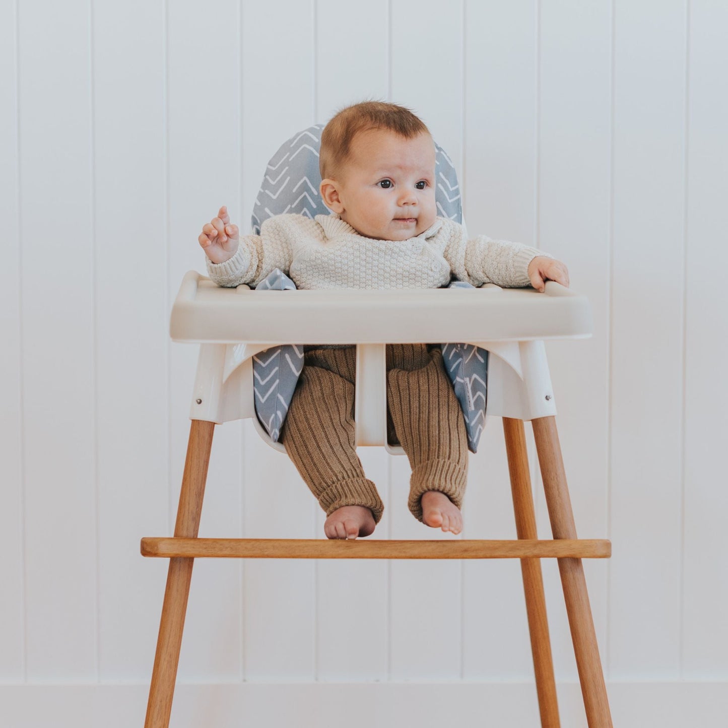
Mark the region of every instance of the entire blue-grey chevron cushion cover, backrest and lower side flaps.
<instances>
[{"instance_id":1,"label":"entire blue-grey chevron cushion cover, backrest and lower side flaps","mask_svg":"<svg viewBox=\"0 0 728 728\"><path fill-rule=\"evenodd\" d=\"M252 228L260 234L261 224L273 215L298 213L313 219L328 208L319 194L319 145L323 124L314 124L285 141L268 163L261 189L253 206ZM435 143L435 204L438 215L462 222L462 197L455 167L445 151ZM472 288L454 281L451 288ZM293 290L290 278L275 269L258 288ZM477 451L485 425L488 352L468 344L443 344L448 376L462 408L468 447ZM304 365L304 347L273 347L253 357L253 391L256 414L271 440L277 442Z\"/></svg>"}]
</instances>

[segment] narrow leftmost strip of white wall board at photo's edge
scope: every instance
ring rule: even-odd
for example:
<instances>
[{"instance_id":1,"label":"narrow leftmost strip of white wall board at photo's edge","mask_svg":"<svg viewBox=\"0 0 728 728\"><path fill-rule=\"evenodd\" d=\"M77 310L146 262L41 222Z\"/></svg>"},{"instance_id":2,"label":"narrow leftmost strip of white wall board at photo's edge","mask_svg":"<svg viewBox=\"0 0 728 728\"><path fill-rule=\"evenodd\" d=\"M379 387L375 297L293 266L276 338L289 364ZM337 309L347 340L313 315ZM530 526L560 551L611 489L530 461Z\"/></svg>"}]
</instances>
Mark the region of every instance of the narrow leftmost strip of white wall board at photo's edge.
<instances>
[{"instance_id":1,"label":"narrow leftmost strip of white wall board at photo's edge","mask_svg":"<svg viewBox=\"0 0 728 728\"><path fill-rule=\"evenodd\" d=\"M20 205L17 108L17 8L0 7L0 219L5 223L0 266L0 679L23 679L23 483L20 368Z\"/></svg>"}]
</instances>

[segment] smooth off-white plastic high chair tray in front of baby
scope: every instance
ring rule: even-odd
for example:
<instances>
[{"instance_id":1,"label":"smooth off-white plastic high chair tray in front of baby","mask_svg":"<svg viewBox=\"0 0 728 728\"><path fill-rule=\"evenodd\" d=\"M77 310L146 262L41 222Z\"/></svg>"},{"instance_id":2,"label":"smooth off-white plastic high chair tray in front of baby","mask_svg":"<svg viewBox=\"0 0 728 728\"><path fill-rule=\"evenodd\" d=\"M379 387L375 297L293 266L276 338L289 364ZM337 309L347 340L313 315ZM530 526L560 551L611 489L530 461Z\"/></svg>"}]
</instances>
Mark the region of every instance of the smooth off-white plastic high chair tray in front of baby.
<instances>
[{"instance_id":1,"label":"smooth off-white plastic high chair tray in front of baby","mask_svg":"<svg viewBox=\"0 0 728 728\"><path fill-rule=\"evenodd\" d=\"M199 344L411 344L590 336L586 296L533 288L250 290L189 271L172 309L173 341Z\"/></svg>"}]
</instances>

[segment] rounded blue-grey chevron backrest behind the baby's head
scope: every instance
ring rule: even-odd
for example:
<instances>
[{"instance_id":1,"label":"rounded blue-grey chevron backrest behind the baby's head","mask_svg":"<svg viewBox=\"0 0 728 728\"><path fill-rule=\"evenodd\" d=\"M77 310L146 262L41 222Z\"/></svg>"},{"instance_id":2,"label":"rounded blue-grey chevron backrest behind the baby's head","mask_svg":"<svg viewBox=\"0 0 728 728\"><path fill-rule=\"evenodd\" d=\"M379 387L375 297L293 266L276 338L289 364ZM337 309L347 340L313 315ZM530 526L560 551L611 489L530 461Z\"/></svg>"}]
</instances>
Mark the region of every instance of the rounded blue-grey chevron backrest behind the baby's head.
<instances>
[{"instance_id":1,"label":"rounded blue-grey chevron backrest behind the baby's head","mask_svg":"<svg viewBox=\"0 0 728 728\"><path fill-rule=\"evenodd\" d=\"M323 124L314 124L282 143L273 155L253 207L253 232L273 215L299 213L314 218L329 214L319 194L319 148ZM438 215L462 223L462 198L455 167L435 143L435 204Z\"/></svg>"}]
</instances>

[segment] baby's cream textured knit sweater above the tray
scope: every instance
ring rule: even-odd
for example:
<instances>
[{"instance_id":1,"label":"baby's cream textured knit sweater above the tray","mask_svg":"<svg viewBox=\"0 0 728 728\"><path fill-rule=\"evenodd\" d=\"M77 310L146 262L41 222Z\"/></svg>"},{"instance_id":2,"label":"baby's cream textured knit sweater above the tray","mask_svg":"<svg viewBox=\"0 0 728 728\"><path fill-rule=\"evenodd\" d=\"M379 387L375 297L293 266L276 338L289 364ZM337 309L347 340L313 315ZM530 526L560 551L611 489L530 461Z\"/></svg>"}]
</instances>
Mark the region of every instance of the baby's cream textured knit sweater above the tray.
<instances>
[{"instance_id":1,"label":"baby's cream textured knit sweater above the tray","mask_svg":"<svg viewBox=\"0 0 728 728\"><path fill-rule=\"evenodd\" d=\"M547 255L485 235L467 240L462 225L440 217L409 240L373 240L332 213L314 220L274 215L260 235L242 236L229 260L206 260L210 278L226 287L258 285L280 268L297 288L439 288L453 277L475 286L518 288L530 285L531 260Z\"/></svg>"}]
</instances>

